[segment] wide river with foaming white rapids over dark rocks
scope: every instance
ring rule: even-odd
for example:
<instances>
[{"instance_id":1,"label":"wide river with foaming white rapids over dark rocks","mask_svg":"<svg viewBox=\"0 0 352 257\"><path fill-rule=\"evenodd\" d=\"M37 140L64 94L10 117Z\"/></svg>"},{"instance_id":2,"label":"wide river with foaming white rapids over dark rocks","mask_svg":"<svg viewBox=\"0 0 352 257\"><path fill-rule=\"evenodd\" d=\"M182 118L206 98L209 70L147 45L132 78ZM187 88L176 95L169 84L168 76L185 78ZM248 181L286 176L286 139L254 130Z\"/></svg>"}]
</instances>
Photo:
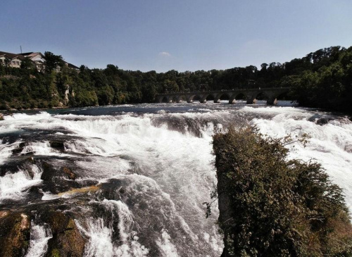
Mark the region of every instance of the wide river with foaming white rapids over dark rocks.
<instances>
[{"instance_id":1,"label":"wide river with foaming white rapids over dark rocks","mask_svg":"<svg viewBox=\"0 0 352 257\"><path fill-rule=\"evenodd\" d=\"M288 102L278 106L139 104L26 111L0 121L0 211L30 211L27 256L53 237L46 209L68 213L87 239L84 256L220 256L213 207L212 136L256 125L301 137L289 158L318 161L352 211L352 122ZM70 177L70 175L74 177ZM216 203L214 203L216 204Z\"/></svg>"}]
</instances>

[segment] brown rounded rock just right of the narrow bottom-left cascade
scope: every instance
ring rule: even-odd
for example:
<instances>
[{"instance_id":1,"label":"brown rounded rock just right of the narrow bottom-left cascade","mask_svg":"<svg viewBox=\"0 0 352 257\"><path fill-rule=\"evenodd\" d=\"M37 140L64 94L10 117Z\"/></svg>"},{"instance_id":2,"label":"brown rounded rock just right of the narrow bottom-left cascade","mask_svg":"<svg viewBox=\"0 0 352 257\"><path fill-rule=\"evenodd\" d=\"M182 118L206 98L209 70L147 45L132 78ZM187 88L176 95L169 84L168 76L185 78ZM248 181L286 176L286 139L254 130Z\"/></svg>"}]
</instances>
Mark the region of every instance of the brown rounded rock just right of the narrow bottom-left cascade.
<instances>
[{"instance_id":1,"label":"brown rounded rock just right of the narrow bottom-left cascade","mask_svg":"<svg viewBox=\"0 0 352 257\"><path fill-rule=\"evenodd\" d=\"M78 230L75 220L58 211L52 211L47 218L53 237L49 239L45 256L83 256L87 239Z\"/></svg>"}]
</instances>

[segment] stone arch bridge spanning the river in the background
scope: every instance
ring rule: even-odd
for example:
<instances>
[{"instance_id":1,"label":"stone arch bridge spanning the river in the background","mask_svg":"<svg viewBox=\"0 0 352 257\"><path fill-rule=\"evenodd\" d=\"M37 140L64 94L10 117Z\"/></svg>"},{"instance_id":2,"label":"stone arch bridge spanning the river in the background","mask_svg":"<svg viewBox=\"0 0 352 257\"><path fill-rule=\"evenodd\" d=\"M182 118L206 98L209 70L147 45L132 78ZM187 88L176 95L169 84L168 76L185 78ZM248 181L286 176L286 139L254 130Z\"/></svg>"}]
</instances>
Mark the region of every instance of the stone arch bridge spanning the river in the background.
<instances>
[{"instance_id":1,"label":"stone arch bridge spanning the river in the background","mask_svg":"<svg viewBox=\"0 0 352 257\"><path fill-rule=\"evenodd\" d=\"M227 96L229 104L234 104L236 99L245 99L246 104L253 104L255 99L262 95L263 99L267 100L267 104L276 104L276 99L282 94L289 92L289 87L268 87L268 88L251 88L251 89L232 89L218 91L203 91L203 92L178 92L170 94L158 94L156 99L158 103L180 103L187 101L193 102L193 99L199 99L201 103L206 103L208 96L212 96L214 103L218 103L222 96Z\"/></svg>"}]
</instances>

